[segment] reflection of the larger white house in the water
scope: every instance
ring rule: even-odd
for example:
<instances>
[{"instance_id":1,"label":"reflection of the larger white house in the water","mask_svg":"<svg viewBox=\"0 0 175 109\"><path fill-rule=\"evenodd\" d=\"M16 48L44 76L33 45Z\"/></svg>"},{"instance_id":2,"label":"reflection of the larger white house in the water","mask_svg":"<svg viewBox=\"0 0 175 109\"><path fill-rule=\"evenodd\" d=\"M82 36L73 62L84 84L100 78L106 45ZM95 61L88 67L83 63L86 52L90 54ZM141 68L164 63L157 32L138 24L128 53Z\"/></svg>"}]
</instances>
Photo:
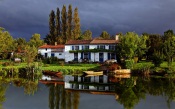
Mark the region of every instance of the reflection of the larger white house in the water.
<instances>
[{"instance_id":1,"label":"reflection of the larger white house in the water","mask_svg":"<svg viewBox=\"0 0 175 109\"><path fill-rule=\"evenodd\" d=\"M114 91L114 85L110 84L108 76L80 77L66 75L65 89L91 90L91 91Z\"/></svg>"}]
</instances>

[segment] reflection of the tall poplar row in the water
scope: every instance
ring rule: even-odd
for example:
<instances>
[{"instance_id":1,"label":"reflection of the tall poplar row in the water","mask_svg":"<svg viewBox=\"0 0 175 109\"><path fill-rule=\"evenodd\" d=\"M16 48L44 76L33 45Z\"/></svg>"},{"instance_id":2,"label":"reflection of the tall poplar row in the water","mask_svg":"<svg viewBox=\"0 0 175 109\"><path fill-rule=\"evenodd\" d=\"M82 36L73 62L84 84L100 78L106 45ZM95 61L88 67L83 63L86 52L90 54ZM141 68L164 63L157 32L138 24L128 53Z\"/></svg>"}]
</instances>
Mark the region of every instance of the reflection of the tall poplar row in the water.
<instances>
[{"instance_id":1,"label":"reflection of the tall poplar row in the water","mask_svg":"<svg viewBox=\"0 0 175 109\"><path fill-rule=\"evenodd\" d=\"M49 84L48 87L50 109L78 109L79 92L67 91L59 84Z\"/></svg>"}]
</instances>

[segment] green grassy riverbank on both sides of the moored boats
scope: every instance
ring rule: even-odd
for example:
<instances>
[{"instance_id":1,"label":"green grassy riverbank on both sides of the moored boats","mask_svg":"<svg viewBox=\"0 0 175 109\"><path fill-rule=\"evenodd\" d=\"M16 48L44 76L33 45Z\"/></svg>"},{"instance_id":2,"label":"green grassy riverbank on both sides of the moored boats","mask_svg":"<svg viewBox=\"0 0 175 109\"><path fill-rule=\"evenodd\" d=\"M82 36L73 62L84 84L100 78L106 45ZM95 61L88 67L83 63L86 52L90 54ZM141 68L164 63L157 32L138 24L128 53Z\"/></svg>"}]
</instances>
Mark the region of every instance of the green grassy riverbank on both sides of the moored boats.
<instances>
[{"instance_id":1,"label":"green grassy riverbank on both sides of the moored boats","mask_svg":"<svg viewBox=\"0 0 175 109\"><path fill-rule=\"evenodd\" d=\"M83 71L99 70L100 66L101 65L98 63L43 64L42 62L34 62L31 64L31 67L39 69L40 71L59 71L63 74L81 74ZM152 62L140 61L139 63L134 64L131 70L134 74L174 74L175 67L173 66L175 66L175 62L172 63L172 67L169 69L167 62L163 62L160 67L154 67L154 64L152 64ZM0 60L0 72L2 69L6 69L6 71L18 72L19 69L27 67L27 63L14 63L8 60Z\"/></svg>"}]
</instances>

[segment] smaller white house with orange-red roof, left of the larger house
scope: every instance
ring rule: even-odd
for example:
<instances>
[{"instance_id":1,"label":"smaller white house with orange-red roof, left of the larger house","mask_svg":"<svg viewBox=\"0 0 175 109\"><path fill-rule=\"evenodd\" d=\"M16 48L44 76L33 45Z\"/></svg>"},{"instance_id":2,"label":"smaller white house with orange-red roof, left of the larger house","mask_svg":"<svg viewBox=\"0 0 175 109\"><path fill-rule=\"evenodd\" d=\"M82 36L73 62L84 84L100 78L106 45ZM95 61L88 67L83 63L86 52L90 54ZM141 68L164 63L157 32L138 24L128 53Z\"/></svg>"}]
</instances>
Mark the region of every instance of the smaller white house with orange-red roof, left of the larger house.
<instances>
[{"instance_id":1,"label":"smaller white house with orange-red roof, left of the larger house","mask_svg":"<svg viewBox=\"0 0 175 109\"><path fill-rule=\"evenodd\" d=\"M40 46L38 52L44 57L57 57L64 59L64 45L43 45Z\"/></svg>"}]
</instances>

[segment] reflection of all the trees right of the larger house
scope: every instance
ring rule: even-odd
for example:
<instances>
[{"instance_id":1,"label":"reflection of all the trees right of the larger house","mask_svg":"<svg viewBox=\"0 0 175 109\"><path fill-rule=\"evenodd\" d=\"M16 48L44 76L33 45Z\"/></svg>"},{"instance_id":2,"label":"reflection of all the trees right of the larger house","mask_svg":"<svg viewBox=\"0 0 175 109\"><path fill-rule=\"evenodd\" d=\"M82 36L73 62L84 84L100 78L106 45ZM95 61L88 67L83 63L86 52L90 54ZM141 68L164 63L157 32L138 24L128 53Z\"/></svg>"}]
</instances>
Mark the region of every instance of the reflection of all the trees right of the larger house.
<instances>
[{"instance_id":1,"label":"reflection of all the trees right of the larger house","mask_svg":"<svg viewBox=\"0 0 175 109\"><path fill-rule=\"evenodd\" d=\"M175 80L170 78L137 78L137 84L133 85L133 78L122 79L116 83L116 100L123 104L126 109L132 109L144 99L148 93L154 96L164 96L167 99L167 106L175 100Z\"/></svg>"}]
</instances>

